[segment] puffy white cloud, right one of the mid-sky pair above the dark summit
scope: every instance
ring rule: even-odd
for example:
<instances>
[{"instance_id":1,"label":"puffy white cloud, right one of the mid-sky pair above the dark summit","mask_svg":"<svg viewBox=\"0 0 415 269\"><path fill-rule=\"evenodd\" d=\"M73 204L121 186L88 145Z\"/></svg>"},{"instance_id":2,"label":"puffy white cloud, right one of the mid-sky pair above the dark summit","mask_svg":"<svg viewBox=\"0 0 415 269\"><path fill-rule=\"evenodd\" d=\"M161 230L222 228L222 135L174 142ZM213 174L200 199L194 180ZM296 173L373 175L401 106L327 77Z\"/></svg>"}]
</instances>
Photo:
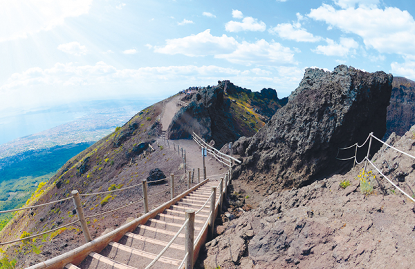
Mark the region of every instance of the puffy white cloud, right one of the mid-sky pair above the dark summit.
<instances>
[{"instance_id":1,"label":"puffy white cloud, right one of the mid-sky pair above the dark summit","mask_svg":"<svg viewBox=\"0 0 415 269\"><path fill-rule=\"evenodd\" d=\"M226 59L231 63L239 63L245 66L252 64L284 66L296 64L294 52L280 43L268 43L261 39L255 43L243 41L232 53L216 54L215 58Z\"/></svg>"}]
</instances>

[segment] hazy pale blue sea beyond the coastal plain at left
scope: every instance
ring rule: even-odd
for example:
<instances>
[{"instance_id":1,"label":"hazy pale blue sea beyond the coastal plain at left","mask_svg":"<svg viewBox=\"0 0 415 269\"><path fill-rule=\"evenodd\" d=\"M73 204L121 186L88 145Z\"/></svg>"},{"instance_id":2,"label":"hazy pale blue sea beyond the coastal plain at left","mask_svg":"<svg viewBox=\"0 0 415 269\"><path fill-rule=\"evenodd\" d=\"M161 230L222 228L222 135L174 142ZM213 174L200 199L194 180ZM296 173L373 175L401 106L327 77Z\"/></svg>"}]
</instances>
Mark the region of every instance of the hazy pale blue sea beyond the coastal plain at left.
<instances>
[{"instance_id":1,"label":"hazy pale blue sea beyond the coastal plain at left","mask_svg":"<svg viewBox=\"0 0 415 269\"><path fill-rule=\"evenodd\" d=\"M136 114L145 105L142 100L104 100L69 103L53 108L38 108L32 111L8 112L0 114L0 145L19 137L54 128L75 121L91 113L99 113L114 108Z\"/></svg>"}]
</instances>

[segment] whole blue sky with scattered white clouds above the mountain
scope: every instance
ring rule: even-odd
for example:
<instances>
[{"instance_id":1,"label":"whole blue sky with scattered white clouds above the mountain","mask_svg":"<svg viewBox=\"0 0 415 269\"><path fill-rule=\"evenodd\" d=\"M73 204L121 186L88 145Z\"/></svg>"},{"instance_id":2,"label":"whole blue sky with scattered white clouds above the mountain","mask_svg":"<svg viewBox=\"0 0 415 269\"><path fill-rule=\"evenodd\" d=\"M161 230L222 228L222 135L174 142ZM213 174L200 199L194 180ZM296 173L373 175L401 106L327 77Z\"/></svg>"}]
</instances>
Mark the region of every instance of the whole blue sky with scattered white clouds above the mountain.
<instances>
[{"instance_id":1,"label":"whole blue sky with scattered white clouds above the mountain","mask_svg":"<svg viewBox=\"0 0 415 269\"><path fill-rule=\"evenodd\" d=\"M73 101L161 99L219 79L286 97L305 68L341 63L415 79L412 1L0 5L0 115Z\"/></svg>"}]
</instances>

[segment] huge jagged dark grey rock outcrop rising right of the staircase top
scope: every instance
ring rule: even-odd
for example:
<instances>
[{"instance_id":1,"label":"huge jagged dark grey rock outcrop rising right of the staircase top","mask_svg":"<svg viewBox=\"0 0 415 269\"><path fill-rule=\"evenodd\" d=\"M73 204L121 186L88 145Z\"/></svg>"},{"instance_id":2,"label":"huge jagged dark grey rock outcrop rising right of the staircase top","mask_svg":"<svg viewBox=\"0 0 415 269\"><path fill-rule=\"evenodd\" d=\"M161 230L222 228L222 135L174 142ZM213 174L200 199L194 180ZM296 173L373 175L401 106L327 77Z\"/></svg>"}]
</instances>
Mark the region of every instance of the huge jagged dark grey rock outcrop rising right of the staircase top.
<instances>
[{"instance_id":1,"label":"huge jagged dark grey rock outcrop rising right of the staircase top","mask_svg":"<svg viewBox=\"0 0 415 269\"><path fill-rule=\"evenodd\" d=\"M245 157L234 177L270 194L330 175L339 169L338 148L362 143L369 132L385 134L391 83L385 72L308 68L286 106L249 143L234 143L234 152Z\"/></svg>"}]
</instances>

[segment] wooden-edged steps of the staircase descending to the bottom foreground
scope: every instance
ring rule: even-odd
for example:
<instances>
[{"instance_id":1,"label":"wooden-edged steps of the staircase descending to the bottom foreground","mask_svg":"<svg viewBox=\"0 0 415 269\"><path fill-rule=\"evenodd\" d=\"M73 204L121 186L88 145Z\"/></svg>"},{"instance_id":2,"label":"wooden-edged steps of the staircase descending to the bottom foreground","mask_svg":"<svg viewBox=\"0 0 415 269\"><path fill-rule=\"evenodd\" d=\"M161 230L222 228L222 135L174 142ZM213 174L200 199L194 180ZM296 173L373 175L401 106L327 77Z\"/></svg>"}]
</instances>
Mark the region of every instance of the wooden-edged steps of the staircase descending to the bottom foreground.
<instances>
[{"instance_id":1,"label":"wooden-edged steps of the staircase descending to the bottom foreground","mask_svg":"<svg viewBox=\"0 0 415 269\"><path fill-rule=\"evenodd\" d=\"M84 261L74 266L68 263L68 269L127 269L146 268L151 261L167 246L176 232L185 222L185 210L199 210L210 197L212 187L219 181L208 181L174 205L139 224L133 232L127 232L117 242L111 241L100 253L91 252ZM219 195L216 195L216 200ZM216 201L215 201L216 202ZM208 202L195 216L194 238L199 235L210 214ZM182 230L172 246L167 249L151 268L178 268L185 257L185 230Z\"/></svg>"}]
</instances>

